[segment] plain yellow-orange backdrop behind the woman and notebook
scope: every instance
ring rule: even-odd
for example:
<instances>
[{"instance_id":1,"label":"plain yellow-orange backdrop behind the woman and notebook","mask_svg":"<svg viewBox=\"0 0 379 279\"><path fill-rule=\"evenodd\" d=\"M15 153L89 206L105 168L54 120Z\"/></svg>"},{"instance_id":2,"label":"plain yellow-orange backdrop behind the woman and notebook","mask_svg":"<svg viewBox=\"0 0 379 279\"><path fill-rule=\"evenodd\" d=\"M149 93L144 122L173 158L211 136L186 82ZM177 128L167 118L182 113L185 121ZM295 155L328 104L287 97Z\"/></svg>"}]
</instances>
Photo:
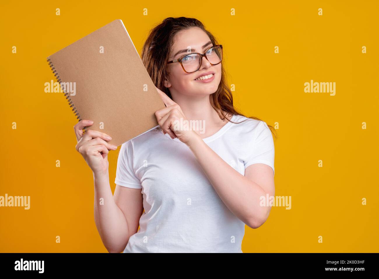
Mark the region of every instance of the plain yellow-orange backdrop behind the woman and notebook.
<instances>
[{"instance_id":1,"label":"plain yellow-orange backdrop behind the woman and notebook","mask_svg":"<svg viewBox=\"0 0 379 279\"><path fill-rule=\"evenodd\" d=\"M63 93L44 92L53 79L46 57L114 19L141 53L150 28L169 16L201 20L224 46L235 105L279 123L275 195L291 196L292 208L273 207L261 227L246 226L243 252L379 252L378 2L206 3L1 2L0 195L30 195L31 208L0 208L0 252L107 252L92 171L75 150L77 120ZM304 93L311 79L336 82L336 95Z\"/></svg>"}]
</instances>

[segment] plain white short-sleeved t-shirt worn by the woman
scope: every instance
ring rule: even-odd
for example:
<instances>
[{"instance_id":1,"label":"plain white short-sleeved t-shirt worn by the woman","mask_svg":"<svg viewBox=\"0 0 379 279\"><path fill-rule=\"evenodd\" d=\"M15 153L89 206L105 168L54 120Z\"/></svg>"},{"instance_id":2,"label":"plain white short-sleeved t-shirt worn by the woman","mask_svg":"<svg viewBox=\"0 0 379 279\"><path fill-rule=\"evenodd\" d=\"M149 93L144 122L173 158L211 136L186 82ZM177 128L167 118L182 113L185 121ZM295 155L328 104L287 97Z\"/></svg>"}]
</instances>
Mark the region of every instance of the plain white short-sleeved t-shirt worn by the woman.
<instances>
[{"instance_id":1,"label":"plain white short-sleeved t-shirt worn by the woman","mask_svg":"<svg viewBox=\"0 0 379 279\"><path fill-rule=\"evenodd\" d=\"M242 175L255 163L274 170L273 136L264 121L228 122L203 140ZM124 253L242 253L245 224L222 202L185 143L153 129L123 143L117 160L114 183L141 189L145 210Z\"/></svg>"}]
</instances>

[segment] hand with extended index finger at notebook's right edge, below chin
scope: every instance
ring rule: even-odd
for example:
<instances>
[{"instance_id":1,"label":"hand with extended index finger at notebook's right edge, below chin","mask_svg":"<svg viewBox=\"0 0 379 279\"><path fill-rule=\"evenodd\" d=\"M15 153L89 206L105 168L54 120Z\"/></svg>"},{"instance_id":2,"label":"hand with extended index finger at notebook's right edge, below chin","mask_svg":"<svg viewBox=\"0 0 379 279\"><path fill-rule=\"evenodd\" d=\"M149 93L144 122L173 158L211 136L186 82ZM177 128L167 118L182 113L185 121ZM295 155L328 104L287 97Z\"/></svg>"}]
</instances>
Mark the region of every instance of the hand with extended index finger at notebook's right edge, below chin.
<instances>
[{"instance_id":1,"label":"hand with extended index finger at notebook's right edge, below chin","mask_svg":"<svg viewBox=\"0 0 379 279\"><path fill-rule=\"evenodd\" d=\"M181 142L186 144L188 144L195 137L199 137L199 134L191 129L190 125L183 125L183 123L188 123L188 120L182 112L180 106L172 101L166 93L161 91L158 87L156 88L159 96L166 105L164 109L160 109L155 112L155 117L157 118L158 124L163 133L169 134L172 139L176 137Z\"/></svg>"}]
</instances>

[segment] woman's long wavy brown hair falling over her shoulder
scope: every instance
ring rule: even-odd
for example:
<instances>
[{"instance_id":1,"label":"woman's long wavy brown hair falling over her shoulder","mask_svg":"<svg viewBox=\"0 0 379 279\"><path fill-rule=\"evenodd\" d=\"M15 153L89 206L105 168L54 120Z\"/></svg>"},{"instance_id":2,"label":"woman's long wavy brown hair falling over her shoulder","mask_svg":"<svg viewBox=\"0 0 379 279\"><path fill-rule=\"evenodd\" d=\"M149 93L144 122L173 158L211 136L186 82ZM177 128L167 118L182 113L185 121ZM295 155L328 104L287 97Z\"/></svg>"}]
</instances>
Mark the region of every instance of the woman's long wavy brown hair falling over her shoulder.
<instances>
[{"instance_id":1,"label":"woman's long wavy brown hair falling over her shoulder","mask_svg":"<svg viewBox=\"0 0 379 279\"><path fill-rule=\"evenodd\" d=\"M175 35L178 32L191 27L201 28L205 33L207 33L213 45L218 44L215 36L213 36L199 20L189 17L167 17L160 24L155 25L155 27L150 30L150 33L147 36L142 48L141 59L146 67L147 73L149 73L155 86L166 93L166 95L170 98L172 98L171 93L169 89L164 86L164 80L168 77L167 61L170 56ZM221 61L220 84L216 92L212 93L209 98L211 106L218 113L221 120L225 121L226 115L229 115L230 117L233 114L247 117L233 106L232 92L226 82L224 60ZM223 111L226 112L225 115L223 114ZM257 117L247 118L261 120ZM270 125L268 125L268 127L276 138L277 136L274 127Z\"/></svg>"}]
</instances>

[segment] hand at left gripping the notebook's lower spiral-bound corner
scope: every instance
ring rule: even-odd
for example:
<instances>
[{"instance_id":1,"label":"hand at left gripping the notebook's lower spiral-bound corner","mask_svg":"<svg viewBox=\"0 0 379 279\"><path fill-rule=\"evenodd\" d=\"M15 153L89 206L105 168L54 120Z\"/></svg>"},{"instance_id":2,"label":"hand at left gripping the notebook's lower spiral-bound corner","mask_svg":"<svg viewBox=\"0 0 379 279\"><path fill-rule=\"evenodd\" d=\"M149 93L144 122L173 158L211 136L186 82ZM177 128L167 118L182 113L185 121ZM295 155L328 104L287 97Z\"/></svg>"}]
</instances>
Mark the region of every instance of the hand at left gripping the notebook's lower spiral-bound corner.
<instances>
[{"instance_id":1,"label":"hand at left gripping the notebook's lower spiral-bound corner","mask_svg":"<svg viewBox=\"0 0 379 279\"><path fill-rule=\"evenodd\" d=\"M87 130L83 134L83 128L91 126L93 121L80 120L75 126L75 136L77 145L75 149L83 156L88 166L94 173L106 173L108 171L108 152L109 150L116 150L117 146L112 145L107 140L111 137L95 130ZM100 153L102 152L102 153Z\"/></svg>"}]
</instances>

